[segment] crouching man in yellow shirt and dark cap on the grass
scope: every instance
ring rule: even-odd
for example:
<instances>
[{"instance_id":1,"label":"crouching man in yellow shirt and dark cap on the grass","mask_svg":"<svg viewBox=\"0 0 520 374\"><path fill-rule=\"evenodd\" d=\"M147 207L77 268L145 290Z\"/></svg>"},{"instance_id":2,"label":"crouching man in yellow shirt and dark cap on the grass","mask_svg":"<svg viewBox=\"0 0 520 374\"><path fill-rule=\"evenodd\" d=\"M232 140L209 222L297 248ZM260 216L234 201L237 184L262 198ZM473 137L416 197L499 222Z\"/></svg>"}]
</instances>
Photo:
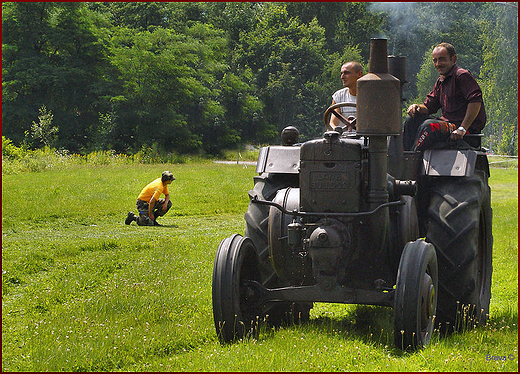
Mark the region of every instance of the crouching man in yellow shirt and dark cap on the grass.
<instances>
[{"instance_id":1,"label":"crouching man in yellow shirt and dark cap on the grass","mask_svg":"<svg viewBox=\"0 0 520 374\"><path fill-rule=\"evenodd\" d=\"M161 178L148 183L137 197L137 211L139 217L133 212L128 212L125 223L127 225L135 221L139 226L161 226L157 223L157 217L164 216L172 206L168 185L175 180L173 174L166 170ZM164 198L160 196L164 194Z\"/></svg>"}]
</instances>

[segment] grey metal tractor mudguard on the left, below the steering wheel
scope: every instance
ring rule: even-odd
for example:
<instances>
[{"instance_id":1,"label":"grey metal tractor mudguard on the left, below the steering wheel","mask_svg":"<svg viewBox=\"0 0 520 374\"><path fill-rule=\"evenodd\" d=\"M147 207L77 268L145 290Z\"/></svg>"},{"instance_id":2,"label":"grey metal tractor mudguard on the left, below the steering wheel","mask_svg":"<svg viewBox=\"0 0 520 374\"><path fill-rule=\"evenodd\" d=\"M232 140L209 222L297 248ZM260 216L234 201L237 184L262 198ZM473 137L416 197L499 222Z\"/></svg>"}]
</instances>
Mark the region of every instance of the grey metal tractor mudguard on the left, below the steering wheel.
<instances>
[{"instance_id":1,"label":"grey metal tractor mudguard on the left, below the steering wheel","mask_svg":"<svg viewBox=\"0 0 520 374\"><path fill-rule=\"evenodd\" d=\"M299 146L270 146L260 149L256 164L257 173L298 174L299 170Z\"/></svg>"}]
</instances>

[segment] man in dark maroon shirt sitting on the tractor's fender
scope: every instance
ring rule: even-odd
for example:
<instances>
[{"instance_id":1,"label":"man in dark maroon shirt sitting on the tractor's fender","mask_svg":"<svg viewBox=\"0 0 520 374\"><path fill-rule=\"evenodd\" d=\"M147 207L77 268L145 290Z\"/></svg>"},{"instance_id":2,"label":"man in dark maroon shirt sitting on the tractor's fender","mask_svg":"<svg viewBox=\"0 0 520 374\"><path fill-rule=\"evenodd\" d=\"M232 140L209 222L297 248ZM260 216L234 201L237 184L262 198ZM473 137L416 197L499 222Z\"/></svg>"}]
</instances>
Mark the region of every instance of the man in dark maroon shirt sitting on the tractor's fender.
<instances>
[{"instance_id":1,"label":"man in dark maroon shirt sitting on the tractor's fender","mask_svg":"<svg viewBox=\"0 0 520 374\"><path fill-rule=\"evenodd\" d=\"M421 151L439 141L460 140L466 133L478 134L486 124L482 90L469 71L456 65L457 54L449 43L432 52L440 77L423 104L412 104L404 124L405 150ZM440 118L430 114L441 109Z\"/></svg>"}]
</instances>

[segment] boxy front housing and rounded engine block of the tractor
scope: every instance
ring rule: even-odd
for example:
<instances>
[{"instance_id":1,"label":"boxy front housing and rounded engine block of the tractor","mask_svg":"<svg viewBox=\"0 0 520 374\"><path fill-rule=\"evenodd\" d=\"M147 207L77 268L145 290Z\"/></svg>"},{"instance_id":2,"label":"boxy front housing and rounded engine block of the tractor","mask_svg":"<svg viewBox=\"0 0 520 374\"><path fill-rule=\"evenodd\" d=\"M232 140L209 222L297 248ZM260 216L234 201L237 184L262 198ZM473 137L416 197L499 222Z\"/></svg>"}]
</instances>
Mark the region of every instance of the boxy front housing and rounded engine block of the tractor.
<instances>
[{"instance_id":1,"label":"boxy front housing and rounded engine block of the tractor","mask_svg":"<svg viewBox=\"0 0 520 374\"><path fill-rule=\"evenodd\" d=\"M336 131L307 142L300 151L300 188L279 190L273 202L287 211L356 213L365 209L368 159L362 141ZM275 207L269 212L269 254L277 275L294 285L318 282L333 287L344 277L351 219L320 214L293 217Z\"/></svg>"}]
</instances>

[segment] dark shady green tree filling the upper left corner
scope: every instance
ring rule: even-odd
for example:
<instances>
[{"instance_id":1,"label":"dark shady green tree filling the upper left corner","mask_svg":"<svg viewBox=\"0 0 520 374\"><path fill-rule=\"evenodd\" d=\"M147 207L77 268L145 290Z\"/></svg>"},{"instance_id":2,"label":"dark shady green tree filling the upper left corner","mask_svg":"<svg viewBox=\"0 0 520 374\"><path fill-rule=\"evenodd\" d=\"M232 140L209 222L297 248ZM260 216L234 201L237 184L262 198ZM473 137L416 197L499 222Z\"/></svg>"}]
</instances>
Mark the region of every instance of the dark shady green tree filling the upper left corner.
<instances>
[{"instance_id":1,"label":"dark shady green tree filling the upper left corner","mask_svg":"<svg viewBox=\"0 0 520 374\"><path fill-rule=\"evenodd\" d=\"M100 20L84 3L3 3L2 10L4 134L21 141L45 105L58 143L80 149L97 117L94 91L105 65Z\"/></svg>"}]
</instances>

